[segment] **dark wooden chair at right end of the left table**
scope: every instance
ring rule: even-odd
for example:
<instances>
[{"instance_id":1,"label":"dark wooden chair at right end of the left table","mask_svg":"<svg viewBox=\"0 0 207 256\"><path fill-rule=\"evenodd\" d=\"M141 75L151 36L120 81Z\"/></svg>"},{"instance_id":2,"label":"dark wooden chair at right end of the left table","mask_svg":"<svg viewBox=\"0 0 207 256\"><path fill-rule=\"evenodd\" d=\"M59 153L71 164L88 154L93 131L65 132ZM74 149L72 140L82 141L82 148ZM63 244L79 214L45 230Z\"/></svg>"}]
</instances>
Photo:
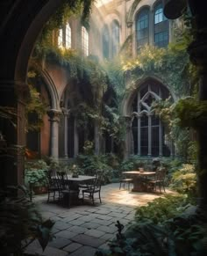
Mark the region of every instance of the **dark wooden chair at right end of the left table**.
<instances>
[{"instance_id":1,"label":"dark wooden chair at right end of the left table","mask_svg":"<svg viewBox=\"0 0 207 256\"><path fill-rule=\"evenodd\" d=\"M88 196L89 199L92 200L93 205L95 204L94 194L98 194L98 198L100 203L101 200L101 187L103 182L103 173L97 173L96 179L94 179L93 183L86 189L82 189L82 201L84 201L85 197Z\"/></svg>"}]
</instances>

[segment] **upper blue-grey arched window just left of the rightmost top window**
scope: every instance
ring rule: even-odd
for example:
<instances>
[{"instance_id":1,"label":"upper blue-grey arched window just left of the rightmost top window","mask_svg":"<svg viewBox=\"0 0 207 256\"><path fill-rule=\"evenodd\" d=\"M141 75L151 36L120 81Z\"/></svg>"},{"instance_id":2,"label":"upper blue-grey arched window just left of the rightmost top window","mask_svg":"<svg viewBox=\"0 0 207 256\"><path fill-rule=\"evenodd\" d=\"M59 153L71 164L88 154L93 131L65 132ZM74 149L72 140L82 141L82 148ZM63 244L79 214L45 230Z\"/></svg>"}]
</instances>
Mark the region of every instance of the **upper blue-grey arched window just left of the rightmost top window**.
<instances>
[{"instance_id":1,"label":"upper blue-grey arched window just left of the rightmost top window","mask_svg":"<svg viewBox=\"0 0 207 256\"><path fill-rule=\"evenodd\" d=\"M149 42L149 11L143 9L139 12L136 19L136 35L137 35L137 47L148 44Z\"/></svg>"}]
</instances>

